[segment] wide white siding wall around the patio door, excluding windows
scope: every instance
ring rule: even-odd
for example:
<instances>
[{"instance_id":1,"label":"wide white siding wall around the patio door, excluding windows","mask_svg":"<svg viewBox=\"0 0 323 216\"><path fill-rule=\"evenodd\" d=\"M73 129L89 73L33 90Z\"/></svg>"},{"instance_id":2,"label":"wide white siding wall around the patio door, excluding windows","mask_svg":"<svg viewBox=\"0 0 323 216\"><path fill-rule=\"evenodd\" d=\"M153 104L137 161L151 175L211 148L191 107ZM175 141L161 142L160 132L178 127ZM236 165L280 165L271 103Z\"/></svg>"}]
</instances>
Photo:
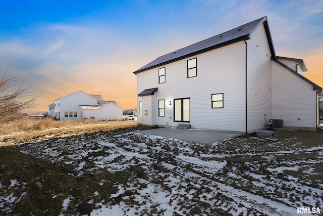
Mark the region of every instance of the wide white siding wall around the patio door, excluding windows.
<instances>
[{"instance_id":1,"label":"wide white siding wall around the patio door, excluding windows","mask_svg":"<svg viewBox=\"0 0 323 216\"><path fill-rule=\"evenodd\" d=\"M193 58L198 60L198 76L187 78L187 60ZM177 126L179 122L174 121L173 101L178 98L190 98L189 121L192 127L245 131L244 41L164 66L167 68L167 82L163 85L158 84L156 68L137 74L138 92L158 88L152 96L138 97L138 101L142 101L143 110L147 105L155 112L155 117L150 116L152 125ZM210 95L214 93L224 93L226 105L223 109L211 108ZM145 101L148 97L152 99ZM166 101L165 117L158 117L158 100L163 99ZM172 101L171 105L169 101ZM153 111L148 112L148 115Z\"/></svg>"}]
</instances>

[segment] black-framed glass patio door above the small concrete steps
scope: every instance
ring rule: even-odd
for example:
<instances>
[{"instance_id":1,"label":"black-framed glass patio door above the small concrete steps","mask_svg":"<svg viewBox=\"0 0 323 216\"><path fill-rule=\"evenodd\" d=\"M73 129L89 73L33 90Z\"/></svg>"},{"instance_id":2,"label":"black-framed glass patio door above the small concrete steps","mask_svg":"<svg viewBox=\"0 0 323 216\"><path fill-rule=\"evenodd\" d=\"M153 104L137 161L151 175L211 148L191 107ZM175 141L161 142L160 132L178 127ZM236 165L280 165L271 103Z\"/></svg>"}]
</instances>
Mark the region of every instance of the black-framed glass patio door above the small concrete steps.
<instances>
[{"instance_id":1,"label":"black-framed glass patio door above the small concrete steps","mask_svg":"<svg viewBox=\"0 0 323 216\"><path fill-rule=\"evenodd\" d=\"M190 121L190 99L174 99L174 121Z\"/></svg>"}]
</instances>

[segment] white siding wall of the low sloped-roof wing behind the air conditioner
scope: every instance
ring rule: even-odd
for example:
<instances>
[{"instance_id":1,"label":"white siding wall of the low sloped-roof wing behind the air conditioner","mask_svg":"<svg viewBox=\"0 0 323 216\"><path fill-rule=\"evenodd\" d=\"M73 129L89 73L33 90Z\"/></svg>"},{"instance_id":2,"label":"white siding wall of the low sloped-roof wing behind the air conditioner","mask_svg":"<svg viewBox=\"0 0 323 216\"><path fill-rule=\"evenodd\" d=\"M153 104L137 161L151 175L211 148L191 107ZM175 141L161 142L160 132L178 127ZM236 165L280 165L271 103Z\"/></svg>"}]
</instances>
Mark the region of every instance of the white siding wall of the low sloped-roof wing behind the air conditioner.
<instances>
[{"instance_id":1,"label":"white siding wall of the low sloped-roof wing behind the air conditioner","mask_svg":"<svg viewBox=\"0 0 323 216\"><path fill-rule=\"evenodd\" d=\"M284 126L315 128L316 94L313 86L274 61L272 70L272 118L283 119Z\"/></svg>"}]
</instances>

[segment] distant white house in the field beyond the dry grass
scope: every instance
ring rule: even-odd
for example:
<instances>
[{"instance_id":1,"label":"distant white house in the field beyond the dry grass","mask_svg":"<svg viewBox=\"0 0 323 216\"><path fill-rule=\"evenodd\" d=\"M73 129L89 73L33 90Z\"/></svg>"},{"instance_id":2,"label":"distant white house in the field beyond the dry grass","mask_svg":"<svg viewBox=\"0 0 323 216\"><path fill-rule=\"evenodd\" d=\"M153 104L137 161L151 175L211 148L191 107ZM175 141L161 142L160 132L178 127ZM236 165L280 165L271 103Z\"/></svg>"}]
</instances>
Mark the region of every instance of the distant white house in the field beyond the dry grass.
<instances>
[{"instance_id":1,"label":"distant white house in the field beyond the dry grass","mask_svg":"<svg viewBox=\"0 0 323 216\"><path fill-rule=\"evenodd\" d=\"M61 120L122 119L122 108L117 102L104 101L100 95L88 95L81 90L56 99L54 106L55 118Z\"/></svg>"}]
</instances>

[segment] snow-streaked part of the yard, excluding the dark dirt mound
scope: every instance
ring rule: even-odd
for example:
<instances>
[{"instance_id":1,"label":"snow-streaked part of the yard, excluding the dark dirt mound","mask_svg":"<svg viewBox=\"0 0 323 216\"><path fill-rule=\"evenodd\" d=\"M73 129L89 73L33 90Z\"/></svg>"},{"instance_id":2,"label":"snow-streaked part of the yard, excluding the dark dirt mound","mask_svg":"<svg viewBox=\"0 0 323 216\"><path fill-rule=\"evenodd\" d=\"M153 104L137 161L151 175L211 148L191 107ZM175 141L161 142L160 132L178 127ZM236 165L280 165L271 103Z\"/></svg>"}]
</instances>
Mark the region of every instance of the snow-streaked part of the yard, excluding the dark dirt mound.
<instances>
[{"instance_id":1,"label":"snow-streaked part of the yard, excluding the dark dirt mound","mask_svg":"<svg viewBox=\"0 0 323 216\"><path fill-rule=\"evenodd\" d=\"M102 170L129 174L108 198L99 191L85 200L65 195L61 215L77 212L72 201L90 204L90 215L296 215L297 207L323 213L322 142L305 145L296 137L274 136L277 142L245 136L201 145L110 131L18 148L68 167L73 177ZM102 187L108 182L97 179ZM9 189L19 184L24 183L12 180ZM22 197L2 196L0 207Z\"/></svg>"}]
</instances>

